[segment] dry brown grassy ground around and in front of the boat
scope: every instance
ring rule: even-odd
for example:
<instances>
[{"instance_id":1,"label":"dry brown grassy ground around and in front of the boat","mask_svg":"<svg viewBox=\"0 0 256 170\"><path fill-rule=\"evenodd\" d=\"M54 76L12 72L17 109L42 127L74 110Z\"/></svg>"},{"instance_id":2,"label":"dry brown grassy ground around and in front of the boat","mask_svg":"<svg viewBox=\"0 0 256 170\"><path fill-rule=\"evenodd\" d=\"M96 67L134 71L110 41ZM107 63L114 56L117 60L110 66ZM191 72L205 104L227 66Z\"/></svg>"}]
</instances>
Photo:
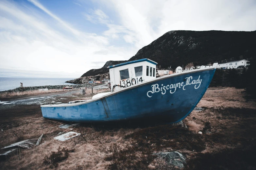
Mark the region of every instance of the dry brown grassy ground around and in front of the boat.
<instances>
[{"instance_id":1,"label":"dry brown grassy ground around and in front of the boat","mask_svg":"<svg viewBox=\"0 0 256 170\"><path fill-rule=\"evenodd\" d=\"M94 94L73 95L65 101ZM179 169L153 155L160 151L179 151L189 170L255 169L255 100L248 100L242 89L209 88L197 106L204 110L184 120L188 129L123 122L82 124L72 130L58 127L66 122L44 119L39 105L0 106L1 148L44 134L39 146L18 149L0 162L0 169ZM64 142L53 139L70 131L81 135Z\"/></svg>"}]
</instances>

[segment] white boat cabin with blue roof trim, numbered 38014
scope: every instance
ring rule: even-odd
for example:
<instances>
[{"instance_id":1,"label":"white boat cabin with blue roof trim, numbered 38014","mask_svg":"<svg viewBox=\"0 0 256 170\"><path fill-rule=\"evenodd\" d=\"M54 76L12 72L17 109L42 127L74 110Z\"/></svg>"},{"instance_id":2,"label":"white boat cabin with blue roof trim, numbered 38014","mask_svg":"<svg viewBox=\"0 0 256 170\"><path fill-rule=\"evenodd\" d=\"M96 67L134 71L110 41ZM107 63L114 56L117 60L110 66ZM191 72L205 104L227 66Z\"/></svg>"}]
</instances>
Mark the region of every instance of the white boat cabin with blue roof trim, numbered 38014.
<instances>
[{"instance_id":1,"label":"white boat cabin with blue roof trim, numbered 38014","mask_svg":"<svg viewBox=\"0 0 256 170\"><path fill-rule=\"evenodd\" d=\"M145 58L109 66L111 92L156 78L156 64Z\"/></svg>"}]
</instances>

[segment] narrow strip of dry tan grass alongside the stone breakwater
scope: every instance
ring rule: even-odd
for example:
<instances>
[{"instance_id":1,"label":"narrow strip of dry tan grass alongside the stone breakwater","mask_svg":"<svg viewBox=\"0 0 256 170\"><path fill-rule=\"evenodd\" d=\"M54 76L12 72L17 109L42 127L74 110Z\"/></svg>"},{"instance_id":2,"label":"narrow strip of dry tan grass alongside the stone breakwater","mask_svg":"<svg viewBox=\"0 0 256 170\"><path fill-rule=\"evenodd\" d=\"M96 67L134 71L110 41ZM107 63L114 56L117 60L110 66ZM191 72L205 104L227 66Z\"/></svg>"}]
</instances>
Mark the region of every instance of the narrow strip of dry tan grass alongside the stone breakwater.
<instances>
[{"instance_id":1,"label":"narrow strip of dry tan grass alongside the stone breakwater","mask_svg":"<svg viewBox=\"0 0 256 170\"><path fill-rule=\"evenodd\" d=\"M0 93L0 98L3 97L14 97L14 96L24 96L24 95L36 95L43 93L54 93L54 92L62 92L61 89L49 89L48 91L39 91L39 90L31 90L26 92L2 92Z\"/></svg>"}]
</instances>

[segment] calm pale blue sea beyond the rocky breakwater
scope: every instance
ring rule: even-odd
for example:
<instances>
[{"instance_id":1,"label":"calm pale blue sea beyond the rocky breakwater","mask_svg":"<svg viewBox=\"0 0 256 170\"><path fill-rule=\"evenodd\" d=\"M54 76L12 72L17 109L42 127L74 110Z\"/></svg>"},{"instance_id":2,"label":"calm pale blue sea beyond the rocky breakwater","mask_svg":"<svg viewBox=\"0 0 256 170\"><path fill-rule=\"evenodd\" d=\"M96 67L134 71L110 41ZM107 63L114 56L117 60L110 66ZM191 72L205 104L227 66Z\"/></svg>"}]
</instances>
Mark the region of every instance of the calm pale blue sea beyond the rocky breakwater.
<instances>
[{"instance_id":1,"label":"calm pale blue sea beyond the rocky breakwater","mask_svg":"<svg viewBox=\"0 0 256 170\"><path fill-rule=\"evenodd\" d=\"M65 83L67 80L74 78L6 78L0 77L0 91L6 91L20 87L20 83L23 83L23 87L30 86L47 86L47 85L71 85L71 83Z\"/></svg>"}]
</instances>

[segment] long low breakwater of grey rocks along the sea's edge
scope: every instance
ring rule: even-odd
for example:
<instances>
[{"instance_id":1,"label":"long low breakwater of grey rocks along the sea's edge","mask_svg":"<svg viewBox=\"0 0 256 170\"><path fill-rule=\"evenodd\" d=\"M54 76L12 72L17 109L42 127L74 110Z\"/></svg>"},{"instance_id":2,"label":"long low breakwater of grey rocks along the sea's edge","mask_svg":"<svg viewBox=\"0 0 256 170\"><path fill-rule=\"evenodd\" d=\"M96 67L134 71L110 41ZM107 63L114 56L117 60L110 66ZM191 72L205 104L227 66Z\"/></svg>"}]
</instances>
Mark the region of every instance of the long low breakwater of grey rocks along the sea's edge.
<instances>
[{"instance_id":1,"label":"long low breakwater of grey rocks along the sea's edge","mask_svg":"<svg viewBox=\"0 0 256 170\"><path fill-rule=\"evenodd\" d=\"M64 85L66 87L67 85ZM89 87L89 84L77 84L77 85L69 85L69 87L73 87L74 89L79 89L80 87ZM32 90L39 90L39 89L63 89L63 85L55 85L55 86L33 86L33 87L18 87L12 90L1 91L3 92L26 92Z\"/></svg>"}]
</instances>

